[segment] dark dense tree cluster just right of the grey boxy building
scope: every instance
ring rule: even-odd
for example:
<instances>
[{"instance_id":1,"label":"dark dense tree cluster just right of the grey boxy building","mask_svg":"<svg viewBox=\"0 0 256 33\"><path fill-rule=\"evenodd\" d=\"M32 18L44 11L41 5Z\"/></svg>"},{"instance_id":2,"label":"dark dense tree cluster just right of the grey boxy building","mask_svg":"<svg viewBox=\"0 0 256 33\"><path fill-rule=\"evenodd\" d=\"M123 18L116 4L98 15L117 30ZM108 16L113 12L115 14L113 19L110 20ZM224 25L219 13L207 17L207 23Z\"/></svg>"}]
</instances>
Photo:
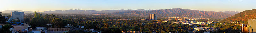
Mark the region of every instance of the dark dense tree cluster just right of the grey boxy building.
<instances>
[{"instance_id":1,"label":"dark dense tree cluster just right of the grey boxy building","mask_svg":"<svg viewBox=\"0 0 256 33\"><path fill-rule=\"evenodd\" d=\"M74 24L71 22L69 19L62 20L59 17L56 17L55 15L51 14L48 15L46 14L45 17L43 18L42 13L34 12L34 18L32 19L31 22L29 22L26 18L25 20L29 22L28 24L31 25L31 28L36 28L36 27L47 27L47 24L52 24L52 27L48 28L64 28L67 24Z\"/></svg>"}]
</instances>

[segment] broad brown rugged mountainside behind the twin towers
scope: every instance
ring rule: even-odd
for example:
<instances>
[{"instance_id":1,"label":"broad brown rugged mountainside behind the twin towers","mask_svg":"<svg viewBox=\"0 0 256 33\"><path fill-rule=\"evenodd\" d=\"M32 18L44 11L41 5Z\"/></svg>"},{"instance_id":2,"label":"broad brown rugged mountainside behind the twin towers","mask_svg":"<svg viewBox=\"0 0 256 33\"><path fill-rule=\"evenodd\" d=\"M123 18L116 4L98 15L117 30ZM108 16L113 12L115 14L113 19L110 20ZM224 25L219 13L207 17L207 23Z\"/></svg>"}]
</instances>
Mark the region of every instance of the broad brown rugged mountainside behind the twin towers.
<instances>
[{"instance_id":1,"label":"broad brown rugged mountainside behind the twin towers","mask_svg":"<svg viewBox=\"0 0 256 33\"><path fill-rule=\"evenodd\" d=\"M197 18L220 18L224 19L232 15L221 13L221 12L207 12L199 10L189 10L189 9L161 9L152 11L130 11L130 12L114 12L114 13L97 13L100 15L131 15L131 16L148 16L154 13L157 16L182 16L182 17L197 17Z\"/></svg>"}]
</instances>

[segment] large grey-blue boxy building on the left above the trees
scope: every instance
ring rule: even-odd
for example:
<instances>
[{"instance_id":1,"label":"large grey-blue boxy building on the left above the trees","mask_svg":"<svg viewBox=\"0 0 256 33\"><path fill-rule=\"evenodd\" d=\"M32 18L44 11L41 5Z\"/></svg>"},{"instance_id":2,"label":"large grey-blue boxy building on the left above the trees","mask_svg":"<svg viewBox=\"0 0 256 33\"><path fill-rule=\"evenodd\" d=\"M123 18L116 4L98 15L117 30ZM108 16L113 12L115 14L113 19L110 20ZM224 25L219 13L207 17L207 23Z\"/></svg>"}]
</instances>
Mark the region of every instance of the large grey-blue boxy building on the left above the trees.
<instances>
[{"instance_id":1,"label":"large grey-blue boxy building on the left above the trees","mask_svg":"<svg viewBox=\"0 0 256 33\"><path fill-rule=\"evenodd\" d=\"M24 12L18 12L18 11L11 11L11 14L10 14L12 17L11 18L14 18L14 19L18 19L20 20L20 22L24 21Z\"/></svg>"}]
</instances>

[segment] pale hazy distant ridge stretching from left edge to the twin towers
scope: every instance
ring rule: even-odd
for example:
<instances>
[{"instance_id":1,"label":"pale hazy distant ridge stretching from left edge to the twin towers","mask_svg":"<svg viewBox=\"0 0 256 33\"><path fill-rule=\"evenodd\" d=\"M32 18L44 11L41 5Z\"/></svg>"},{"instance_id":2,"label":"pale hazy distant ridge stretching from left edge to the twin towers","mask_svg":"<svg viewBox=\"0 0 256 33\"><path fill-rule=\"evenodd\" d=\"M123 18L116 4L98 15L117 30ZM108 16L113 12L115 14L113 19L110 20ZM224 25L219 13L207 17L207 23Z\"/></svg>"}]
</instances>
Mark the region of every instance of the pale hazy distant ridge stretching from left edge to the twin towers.
<instances>
[{"instance_id":1,"label":"pale hazy distant ridge stretching from left edge to the twin towers","mask_svg":"<svg viewBox=\"0 0 256 33\"><path fill-rule=\"evenodd\" d=\"M21 10L5 10L0 11L2 13L10 13L11 11L20 11L24 13L33 13L31 11L21 11ZM102 11L96 11L96 10L55 10L55 11L43 11L42 13L65 13L65 14L92 14L92 13L113 13L113 12L127 12L127 11L151 11L151 10L144 10L144 9L138 9L138 10L102 10Z\"/></svg>"}]
</instances>

